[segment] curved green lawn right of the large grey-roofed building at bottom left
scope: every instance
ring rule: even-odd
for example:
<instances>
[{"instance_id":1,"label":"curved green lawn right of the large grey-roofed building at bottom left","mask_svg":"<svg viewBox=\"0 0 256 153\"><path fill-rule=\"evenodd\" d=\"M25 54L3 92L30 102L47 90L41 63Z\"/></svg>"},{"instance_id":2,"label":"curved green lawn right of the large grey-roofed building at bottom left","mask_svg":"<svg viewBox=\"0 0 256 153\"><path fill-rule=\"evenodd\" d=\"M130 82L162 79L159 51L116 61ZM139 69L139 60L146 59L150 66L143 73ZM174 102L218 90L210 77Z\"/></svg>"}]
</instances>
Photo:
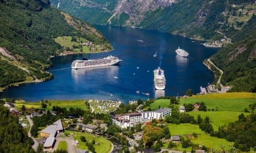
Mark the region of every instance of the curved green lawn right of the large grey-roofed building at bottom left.
<instances>
[{"instance_id":1,"label":"curved green lawn right of the large grey-roofed building at bottom left","mask_svg":"<svg viewBox=\"0 0 256 153\"><path fill-rule=\"evenodd\" d=\"M93 135L88 134L88 133L73 132L73 131L68 131L68 130L66 130L65 133L68 135L70 133L73 133L74 139L78 140L78 142L79 142L79 145L77 145L78 149L82 149L82 150L87 149L88 150L88 147L86 146L86 142L82 142L80 140L80 136L86 137L86 140L89 143L92 142L93 139L95 140L95 142L98 142L99 145L94 145L96 152L107 153L112 148L112 143L108 139L101 137L101 136L94 137Z\"/></svg>"}]
</instances>

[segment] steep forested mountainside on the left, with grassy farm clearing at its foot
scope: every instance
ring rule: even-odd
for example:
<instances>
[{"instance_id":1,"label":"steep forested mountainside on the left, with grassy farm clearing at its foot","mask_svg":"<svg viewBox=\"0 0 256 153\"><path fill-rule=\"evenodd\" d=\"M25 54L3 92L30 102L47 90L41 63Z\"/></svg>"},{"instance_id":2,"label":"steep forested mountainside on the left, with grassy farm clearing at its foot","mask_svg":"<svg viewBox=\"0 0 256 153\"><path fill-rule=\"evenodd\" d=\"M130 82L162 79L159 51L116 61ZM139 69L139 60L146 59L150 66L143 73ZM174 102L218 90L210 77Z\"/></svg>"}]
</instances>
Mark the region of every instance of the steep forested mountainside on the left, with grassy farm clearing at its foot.
<instances>
[{"instance_id":1,"label":"steep forested mountainside on the left, with grassy farm clearing at its foot","mask_svg":"<svg viewBox=\"0 0 256 153\"><path fill-rule=\"evenodd\" d=\"M50 57L113 49L91 24L50 6L48 0L0 0L0 20L0 90L53 78L44 71L53 66Z\"/></svg>"}]
</instances>

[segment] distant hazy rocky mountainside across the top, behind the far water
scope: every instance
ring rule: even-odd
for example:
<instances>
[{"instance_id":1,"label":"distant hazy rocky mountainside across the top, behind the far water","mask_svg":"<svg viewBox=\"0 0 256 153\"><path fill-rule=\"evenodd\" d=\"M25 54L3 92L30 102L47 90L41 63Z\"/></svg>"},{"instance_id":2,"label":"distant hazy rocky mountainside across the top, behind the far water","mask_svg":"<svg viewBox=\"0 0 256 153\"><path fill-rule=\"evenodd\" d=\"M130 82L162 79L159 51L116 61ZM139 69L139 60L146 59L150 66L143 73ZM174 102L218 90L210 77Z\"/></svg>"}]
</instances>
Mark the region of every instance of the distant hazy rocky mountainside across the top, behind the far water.
<instances>
[{"instance_id":1,"label":"distant hazy rocky mountainside across the top, behind the far water","mask_svg":"<svg viewBox=\"0 0 256 153\"><path fill-rule=\"evenodd\" d=\"M178 34L223 45L256 32L254 0L50 0L92 24L111 24ZM248 29L250 33L248 33ZM242 36L242 37L241 37Z\"/></svg>"}]
</instances>

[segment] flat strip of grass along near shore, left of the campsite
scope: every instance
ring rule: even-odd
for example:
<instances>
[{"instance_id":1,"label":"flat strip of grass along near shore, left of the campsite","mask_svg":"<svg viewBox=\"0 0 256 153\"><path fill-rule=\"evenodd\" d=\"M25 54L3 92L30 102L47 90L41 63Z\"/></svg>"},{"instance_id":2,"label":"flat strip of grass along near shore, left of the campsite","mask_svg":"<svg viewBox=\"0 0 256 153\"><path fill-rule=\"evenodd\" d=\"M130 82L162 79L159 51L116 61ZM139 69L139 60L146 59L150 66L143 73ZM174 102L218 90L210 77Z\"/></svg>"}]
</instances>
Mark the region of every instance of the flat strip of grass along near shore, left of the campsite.
<instances>
[{"instance_id":1,"label":"flat strip of grass along near shore, left of the campsite","mask_svg":"<svg viewBox=\"0 0 256 153\"><path fill-rule=\"evenodd\" d=\"M87 110L86 105L84 105L85 100L48 100L48 101L49 103L51 103L51 106L49 106L49 103L47 103L46 110L52 110L53 106L66 107L67 109L72 107L72 108L81 108L83 110ZM40 102L25 103L25 101L17 101L15 105L17 108L21 108L22 105L24 105L26 108L33 107L33 108L41 109Z\"/></svg>"}]
</instances>

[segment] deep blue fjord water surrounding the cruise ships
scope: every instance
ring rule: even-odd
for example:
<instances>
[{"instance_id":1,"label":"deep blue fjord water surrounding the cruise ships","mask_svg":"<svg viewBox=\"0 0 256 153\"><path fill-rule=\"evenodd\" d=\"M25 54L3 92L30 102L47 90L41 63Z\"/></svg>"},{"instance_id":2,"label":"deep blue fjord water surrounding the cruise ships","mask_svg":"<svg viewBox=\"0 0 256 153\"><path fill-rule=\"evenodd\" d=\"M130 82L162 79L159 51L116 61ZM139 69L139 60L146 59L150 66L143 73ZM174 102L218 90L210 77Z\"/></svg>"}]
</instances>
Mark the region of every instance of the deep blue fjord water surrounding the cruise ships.
<instances>
[{"instance_id":1,"label":"deep blue fjord water surrounding the cruise ships","mask_svg":"<svg viewBox=\"0 0 256 153\"><path fill-rule=\"evenodd\" d=\"M205 47L200 41L158 31L105 25L95 27L110 41L115 48L113 51L51 58L54 67L48 71L54 74L53 80L11 87L0 92L0 98L26 101L94 98L121 100L127 104L138 98L183 95L188 89L198 93L200 86L205 87L214 81L214 75L202 62L220 48ZM191 58L176 55L178 47L185 49ZM153 57L156 52L157 57ZM109 67L71 69L74 60L109 55L117 56L122 62ZM164 70L166 78L166 89L160 91L155 90L153 83L153 70L158 66Z\"/></svg>"}]
</instances>

